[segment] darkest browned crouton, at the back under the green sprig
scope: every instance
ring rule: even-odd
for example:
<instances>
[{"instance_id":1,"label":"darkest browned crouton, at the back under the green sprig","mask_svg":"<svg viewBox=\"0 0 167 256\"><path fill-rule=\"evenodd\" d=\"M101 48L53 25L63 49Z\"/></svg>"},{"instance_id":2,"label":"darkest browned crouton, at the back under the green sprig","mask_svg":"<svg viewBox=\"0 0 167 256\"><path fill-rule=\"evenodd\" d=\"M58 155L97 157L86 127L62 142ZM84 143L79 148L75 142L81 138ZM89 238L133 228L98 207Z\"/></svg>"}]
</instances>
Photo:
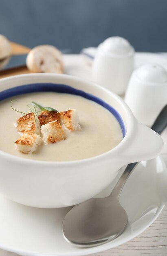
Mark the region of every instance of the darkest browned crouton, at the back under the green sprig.
<instances>
[{"instance_id":1,"label":"darkest browned crouton, at the back under the green sprig","mask_svg":"<svg viewBox=\"0 0 167 256\"><path fill-rule=\"evenodd\" d=\"M40 120L41 126L44 124L48 124L49 122L57 120L59 122L59 113L55 111L42 111L40 112L40 115L38 116L38 119Z\"/></svg>"}]
</instances>

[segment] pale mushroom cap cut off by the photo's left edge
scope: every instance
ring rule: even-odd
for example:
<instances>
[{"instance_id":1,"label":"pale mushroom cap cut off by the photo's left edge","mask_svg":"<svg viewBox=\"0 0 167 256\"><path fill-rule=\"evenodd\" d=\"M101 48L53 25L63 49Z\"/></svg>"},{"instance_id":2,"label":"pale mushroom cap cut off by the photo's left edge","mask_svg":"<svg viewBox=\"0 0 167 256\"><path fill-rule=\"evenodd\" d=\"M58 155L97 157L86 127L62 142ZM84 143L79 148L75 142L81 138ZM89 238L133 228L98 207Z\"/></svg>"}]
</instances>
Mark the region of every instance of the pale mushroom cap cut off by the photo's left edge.
<instances>
[{"instance_id":1,"label":"pale mushroom cap cut off by the photo's left edge","mask_svg":"<svg viewBox=\"0 0 167 256\"><path fill-rule=\"evenodd\" d=\"M0 35L0 60L11 55L11 45L9 40L3 35Z\"/></svg>"}]
</instances>

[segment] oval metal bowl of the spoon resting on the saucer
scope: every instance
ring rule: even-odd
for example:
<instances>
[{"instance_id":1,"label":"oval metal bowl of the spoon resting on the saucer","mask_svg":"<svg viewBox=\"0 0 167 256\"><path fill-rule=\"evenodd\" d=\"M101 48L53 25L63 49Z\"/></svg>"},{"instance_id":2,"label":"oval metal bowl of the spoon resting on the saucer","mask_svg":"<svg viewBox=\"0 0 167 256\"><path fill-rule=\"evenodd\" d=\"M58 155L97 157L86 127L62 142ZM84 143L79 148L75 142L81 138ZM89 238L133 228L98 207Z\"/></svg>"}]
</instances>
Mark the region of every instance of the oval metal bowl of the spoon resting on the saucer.
<instances>
[{"instance_id":1,"label":"oval metal bowl of the spoon resting on the saucer","mask_svg":"<svg viewBox=\"0 0 167 256\"><path fill-rule=\"evenodd\" d=\"M120 221L115 225L117 218ZM64 238L80 247L101 245L119 236L127 220L126 211L114 196L111 195L110 199L92 198L76 205L65 216Z\"/></svg>"}]
</instances>

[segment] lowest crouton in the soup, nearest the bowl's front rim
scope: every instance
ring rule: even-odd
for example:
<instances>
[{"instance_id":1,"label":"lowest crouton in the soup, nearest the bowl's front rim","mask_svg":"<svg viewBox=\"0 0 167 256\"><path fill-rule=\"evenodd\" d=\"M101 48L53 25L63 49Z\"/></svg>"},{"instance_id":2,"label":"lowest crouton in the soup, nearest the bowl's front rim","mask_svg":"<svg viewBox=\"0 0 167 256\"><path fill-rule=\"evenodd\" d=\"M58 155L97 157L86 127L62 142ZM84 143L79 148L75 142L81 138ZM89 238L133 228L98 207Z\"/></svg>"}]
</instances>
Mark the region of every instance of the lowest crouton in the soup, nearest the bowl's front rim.
<instances>
[{"instance_id":1,"label":"lowest crouton in the soup, nearest the bowl's front rim","mask_svg":"<svg viewBox=\"0 0 167 256\"><path fill-rule=\"evenodd\" d=\"M33 153L41 144L41 136L36 133L24 133L15 141L16 148L24 153Z\"/></svg>"}]
</instances>

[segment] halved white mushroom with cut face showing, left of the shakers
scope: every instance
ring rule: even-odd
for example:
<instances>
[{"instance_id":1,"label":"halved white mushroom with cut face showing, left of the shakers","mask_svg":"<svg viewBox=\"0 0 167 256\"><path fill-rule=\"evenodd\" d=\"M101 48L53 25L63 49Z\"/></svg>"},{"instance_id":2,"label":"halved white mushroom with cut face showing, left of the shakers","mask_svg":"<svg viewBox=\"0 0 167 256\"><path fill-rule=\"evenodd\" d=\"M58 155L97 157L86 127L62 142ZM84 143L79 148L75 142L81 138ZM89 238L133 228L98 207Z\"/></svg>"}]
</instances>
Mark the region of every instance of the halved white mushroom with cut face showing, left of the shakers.
<instances>
[{"instance_id":1,"label":"halved white mushroom with cut face showing, left of the shakers","mask_svg":"<svg viewBox=\"0 0 167 256\"><path fill-rule=\"evenodd\" d=\"M27 55L26 65L32 72L61 74L63 73L63 56L52 45L39 45Z\"/></svg>"}]
</instances>

